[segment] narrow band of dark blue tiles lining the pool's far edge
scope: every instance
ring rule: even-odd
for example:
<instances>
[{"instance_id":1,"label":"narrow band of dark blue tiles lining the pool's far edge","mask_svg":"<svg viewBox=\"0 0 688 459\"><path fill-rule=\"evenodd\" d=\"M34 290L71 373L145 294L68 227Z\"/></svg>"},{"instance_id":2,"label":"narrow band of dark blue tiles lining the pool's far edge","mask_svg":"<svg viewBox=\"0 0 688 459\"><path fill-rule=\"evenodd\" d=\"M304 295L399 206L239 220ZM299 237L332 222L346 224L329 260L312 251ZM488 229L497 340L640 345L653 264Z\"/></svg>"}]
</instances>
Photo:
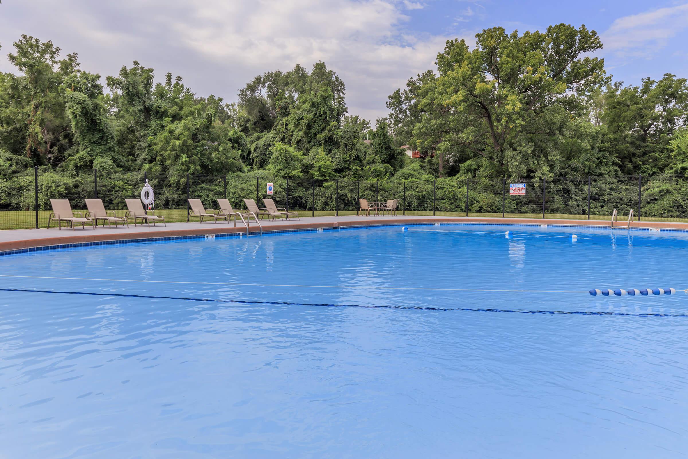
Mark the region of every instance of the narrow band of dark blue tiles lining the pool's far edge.
<instances>
[{"instance_id":1,"label":"narrow band of dark blue tiles lining the pool's far edge","mask_svg":"<svg viewBox=\"0 0 688 459\"><path fill-rule=\"evenodd\" d=\"M389 224L360 224L347 226L321 226L319 228L293 228L284 230L267 230L263 231L263 235L275 235L282 233L316 233L321 231L345 231L356 230L363 228L383 228L389 226L539 226L546 228L548 226L555 226L557 228L601 228L610 231L661 231L671 233L688 233L688 229L680 228L610 228L608 225L576 225L576 224L542 224L542 223L474 223L474 222L437 222L437 223L389 223ZM252 236L260 236L255 231L251 232ZM0 251L0 257L8 255L19 255L22 253L43 252L45 250L60 250L65 248L88 247L88 246L105 246L113 244L153 244L170 241L180 241L184 239L216 239L225 237L246 237L244 233L217 233L217 234L202 234L202 235L186 235L186 236L165 236L165 237L138 237L136 239L115 239L112 241L93 241L93 242L74 242L67 244L54 244L50 246L36 246L27 248L17 248L14 250Z\"/></svg>"}]
</instances>

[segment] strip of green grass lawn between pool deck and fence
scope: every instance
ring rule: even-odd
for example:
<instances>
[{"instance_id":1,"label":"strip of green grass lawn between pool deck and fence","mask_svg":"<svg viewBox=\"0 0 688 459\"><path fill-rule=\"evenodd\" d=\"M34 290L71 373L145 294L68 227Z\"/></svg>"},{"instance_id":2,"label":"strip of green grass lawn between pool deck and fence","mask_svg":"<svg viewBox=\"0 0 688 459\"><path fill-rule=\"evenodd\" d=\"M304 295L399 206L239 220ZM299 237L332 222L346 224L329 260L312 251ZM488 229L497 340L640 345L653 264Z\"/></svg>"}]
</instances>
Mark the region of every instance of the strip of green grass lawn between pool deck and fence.
<instances>
[{"instance_id":1,"label":"strip of green grass lawn between pool deck and fence","mask_svg":"<svg viewBox=\"0 0 688 459\"><path fill-rule=\"evenodd\" d=\"M81 211L84 215L86 211ZM310 217L312 211L297 211L301 217ZM116 211L118 217L124 217L126 211ZM334 215L334 211L316 211L316 217L330 217ZM403 212L399 211L398 215ZM39 228L47 226L48 215L50 211L39 211ZM155 210L155 215L163 215L166 222L186 222L186 209L170 209L170 210ZM356 211L339 211L339 215L356 215ZM406 215L433 215L432 211L406 211ZM436 212L438 217L463 217L464 212ZM472 213L469 212L469 217L502 217L502 213ZM506 213L504 217L508 218L542 218L541 213ZM546 218L554 219L568 219L568 220L588 220L587 215L566 215L560 213L545 213ZM590 220L605 221L611 220L611 215L590 215ZM197 221L197 219L193 220ZM627 217L620 215L619 222L626 222ZM659 217L643 217L644 222L688 222L688 219L678 218L659 218ZM25 229L34 228L36 226L36 215L33 211L0 211L0 230L8 229ZM53 223L50 224L52 228ZM64 226L64 223L63 223Z\"/></svg>"}]
</instances>

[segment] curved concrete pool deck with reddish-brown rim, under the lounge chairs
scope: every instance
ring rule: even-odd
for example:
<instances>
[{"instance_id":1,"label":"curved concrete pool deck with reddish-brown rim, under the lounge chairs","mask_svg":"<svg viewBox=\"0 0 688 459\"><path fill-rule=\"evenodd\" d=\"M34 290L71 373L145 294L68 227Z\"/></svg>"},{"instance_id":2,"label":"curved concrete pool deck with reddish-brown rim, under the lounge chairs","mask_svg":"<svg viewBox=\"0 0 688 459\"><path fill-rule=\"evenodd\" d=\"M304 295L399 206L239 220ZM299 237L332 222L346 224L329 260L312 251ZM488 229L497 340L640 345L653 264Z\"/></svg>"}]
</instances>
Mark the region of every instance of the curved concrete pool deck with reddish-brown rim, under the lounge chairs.
<instances>
[{"instance_id":1,"label":"curved concrete pool deck with reddish-brown rim, under the lounge chairs","mask_svg":"<svg viewBox=\"0 0 688 459\"><path fill-rule=\"evenodd\" d=\"M431 216L378 216L363 217L346 215L341 217L302 217L301 220L277 220L268 222L261 220L263 231L288 231L312 228L341 228L351 226L375 226L389 224L419 224L419 223L490 223L490 224L548 224L548 225L577 225L577 226L609 226L603 220L560 220L536 218L493 218L493 217L431 217ZM679 222L634 222L632 228L663 228L688 230L688 223ZM627 222L617 222L614 228L626 229ZM250 225L250 235L257 235L259 227L255 222ZM149 237L174 237L211 235L223 233L246 233L246 226L239 222L233 226L228 222L189 222L168 223L167 226L147 225L119 226L108 228L92 226L86 228L50 228L23 229L0 231L0 252L23 248L54 246L59 244L78 244L83 242L114 241L121 239L141 239Z\"/></svg>"}]
</instances>

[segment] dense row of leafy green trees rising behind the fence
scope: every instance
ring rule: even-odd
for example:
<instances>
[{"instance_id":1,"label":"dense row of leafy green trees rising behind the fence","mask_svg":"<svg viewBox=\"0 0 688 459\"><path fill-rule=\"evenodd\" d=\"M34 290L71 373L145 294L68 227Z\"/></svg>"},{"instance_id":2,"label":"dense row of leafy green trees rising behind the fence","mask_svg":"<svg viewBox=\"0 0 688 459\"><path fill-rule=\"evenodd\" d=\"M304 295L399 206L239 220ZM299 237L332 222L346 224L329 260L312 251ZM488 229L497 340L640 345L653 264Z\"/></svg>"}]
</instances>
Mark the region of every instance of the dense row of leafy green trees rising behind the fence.
<instances>
[{"instance_id":1,"label":"dense row of leafy green trees rising behind the fence","mask_svg":"<svg viewBox=\"0 0 688 459\"><path fill-rule=\"evenodd\" d=\"M373 127L349 113L345 83L323 62L257 75L226 103L137 61L101 78L23 35L8 54L15 73L0 73L0 167L148 171L170 187L186 173L260 170L372 181L688 171L686 78L613 82L602 46L566 24L449 40Z\"/></svg>"}]
</instances>

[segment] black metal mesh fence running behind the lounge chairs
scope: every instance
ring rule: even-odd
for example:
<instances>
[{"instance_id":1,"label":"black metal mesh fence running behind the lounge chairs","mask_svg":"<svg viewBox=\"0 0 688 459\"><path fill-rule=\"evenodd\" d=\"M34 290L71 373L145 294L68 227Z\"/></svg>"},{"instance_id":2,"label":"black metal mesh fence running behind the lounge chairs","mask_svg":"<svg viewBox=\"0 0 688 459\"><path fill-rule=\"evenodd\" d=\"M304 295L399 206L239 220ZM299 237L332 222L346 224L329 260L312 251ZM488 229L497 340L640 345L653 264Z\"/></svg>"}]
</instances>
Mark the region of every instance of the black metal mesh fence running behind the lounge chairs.
<instances>
[{"instance_id":1,"label":"black metal mesh fence running behind the lounge chairs","mask_svg":"<svg viewBox=\"0 0 688 459\"><path fill-rule=\"evenodd\" d=\"M306 180L276 178L270 173L230 175L186 174L158 178L142 171L92 171L65 175L34 169L0 179L0 230L45 228L51 199L68 199L74 211L85 213L86 198L100 198L107 210L124 215L125 199L138 198L148 180L155 190L155 213L167 222L186 222L188 198L200 198L206 209L226 198L235 209L244 198L270 195L280 207L303 216L352 215L358 199L398 200L400 215L466 215L610 220L617 209L636 220L688 221L688 178L676 175L555 178L441 178L437 180Z\"/></svg>"}]
</instances>

